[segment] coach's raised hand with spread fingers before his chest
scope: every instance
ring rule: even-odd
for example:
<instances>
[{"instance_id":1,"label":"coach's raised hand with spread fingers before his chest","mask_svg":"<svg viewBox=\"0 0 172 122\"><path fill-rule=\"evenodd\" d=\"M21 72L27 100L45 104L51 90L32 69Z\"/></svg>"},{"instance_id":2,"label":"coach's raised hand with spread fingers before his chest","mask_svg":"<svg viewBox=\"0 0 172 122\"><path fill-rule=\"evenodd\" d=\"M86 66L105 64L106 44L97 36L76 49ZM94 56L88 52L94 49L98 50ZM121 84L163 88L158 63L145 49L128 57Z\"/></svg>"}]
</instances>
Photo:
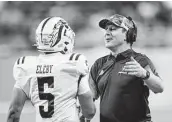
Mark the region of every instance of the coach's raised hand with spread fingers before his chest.
<instances>
[{"instance_id":1,"label":"coach's raised hand with spread fingers before his chest","mask_svg":"<svg viewBox=\"0 0 172 122\"><path fill-rule=\"evenodd\" d=\"M146 77L146 70L133 58L131 61L126 62L120 74L136 76L140 78Z\"/></svg>"}]
</instances>

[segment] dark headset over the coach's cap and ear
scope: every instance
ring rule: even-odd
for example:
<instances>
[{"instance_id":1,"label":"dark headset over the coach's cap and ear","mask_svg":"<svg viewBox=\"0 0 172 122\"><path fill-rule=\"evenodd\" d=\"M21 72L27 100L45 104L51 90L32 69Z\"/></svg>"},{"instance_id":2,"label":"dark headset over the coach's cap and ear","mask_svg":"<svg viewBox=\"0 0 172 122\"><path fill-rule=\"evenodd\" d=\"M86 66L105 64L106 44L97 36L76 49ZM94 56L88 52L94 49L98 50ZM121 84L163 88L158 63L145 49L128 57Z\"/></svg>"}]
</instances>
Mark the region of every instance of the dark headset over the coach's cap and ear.
<instances>
[{"instance_id":1,"label":"dark headset over the coach's cap and ear","mask_svg":"<svg viewBox=\"0 0 172 122\"><path fill-rule=\"evenodd\" d=\"M130 43L132 45L133 42L136 41L137 27L136 27L134 21L132 20L132 18L130 16L128 16L126 18L133 23L133 28L129 28L128 31L127 31L127 33L126 33L126 42L127 43Z\"/></svg>"}]
</instances>

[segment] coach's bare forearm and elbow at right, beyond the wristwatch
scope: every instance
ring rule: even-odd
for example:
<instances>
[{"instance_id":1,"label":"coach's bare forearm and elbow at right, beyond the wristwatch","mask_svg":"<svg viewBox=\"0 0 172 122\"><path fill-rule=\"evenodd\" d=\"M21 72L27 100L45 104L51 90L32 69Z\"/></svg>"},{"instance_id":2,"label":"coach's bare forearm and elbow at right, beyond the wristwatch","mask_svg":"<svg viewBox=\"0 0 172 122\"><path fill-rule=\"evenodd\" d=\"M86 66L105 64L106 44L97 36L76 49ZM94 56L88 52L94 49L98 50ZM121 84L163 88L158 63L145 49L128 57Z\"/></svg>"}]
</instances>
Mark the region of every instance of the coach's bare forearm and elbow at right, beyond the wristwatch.
<instances>
[{"instance_id":1,"label":"coach's bare forearm and elbow at right, beyond the wristwatch","mask_svg":"<svg viewBox=\"0 0 172 122\"><path fill-rule=\"evenodd\" d=\"M147 80L144 80L144 82L154 93L161 93L164 90L163 81L152 72L150 72L150 77Z\"/></svg>"}]
</instances>

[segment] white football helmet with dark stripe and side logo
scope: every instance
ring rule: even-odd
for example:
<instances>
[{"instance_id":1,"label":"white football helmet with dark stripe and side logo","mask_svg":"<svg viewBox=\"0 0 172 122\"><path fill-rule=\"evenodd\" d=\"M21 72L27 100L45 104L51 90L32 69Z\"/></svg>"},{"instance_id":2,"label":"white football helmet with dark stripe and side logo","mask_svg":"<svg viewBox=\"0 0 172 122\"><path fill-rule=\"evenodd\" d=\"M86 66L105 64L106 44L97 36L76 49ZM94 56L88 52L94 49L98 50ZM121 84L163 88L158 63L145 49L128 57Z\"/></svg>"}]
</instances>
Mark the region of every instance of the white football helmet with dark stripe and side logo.
<instances>
[{"instance_id":1,"label":"white football helmet with dark stripe and side logo","mask_svg":"<svg viewBox=\"0 0 172 122\"><path fill-rule=\"evenodd\" d=\"M36 47L41 52L73 51L75 33L60 17L44 19L36 29Z\"/></svg>"}]
</instances>

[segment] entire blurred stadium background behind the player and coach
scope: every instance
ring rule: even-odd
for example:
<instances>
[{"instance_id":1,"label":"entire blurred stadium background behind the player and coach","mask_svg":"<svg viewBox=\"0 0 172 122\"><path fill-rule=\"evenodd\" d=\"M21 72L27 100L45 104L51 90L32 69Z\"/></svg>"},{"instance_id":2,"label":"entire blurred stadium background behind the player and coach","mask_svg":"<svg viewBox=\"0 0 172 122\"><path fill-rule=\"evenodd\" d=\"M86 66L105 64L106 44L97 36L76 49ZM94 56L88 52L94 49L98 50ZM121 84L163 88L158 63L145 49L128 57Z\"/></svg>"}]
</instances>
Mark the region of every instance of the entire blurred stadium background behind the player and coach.
<instances>
[{"instance_id":1,"label":"entire blurred stadium background behind the player and coach","mask_svg":"<svg viewBox=\"0 0 172 122\"><path fill-rule=\"evenodd\" d=\"M109 51L103 47L98 22L114 13L130 15L137 23L134 49L145 53L164 80L165 91L150 95L154 122L172 122L172 2L0 2L0 121L4 122L12 95L12 68L23 55L37 55L32 47L35 29L47 16L61 16L76 32L75 50L89 65ZM96 103L97 108L99 101ZM99 110L92 122L99 121ZM21 122L35 122L35 111L26 102Z\"/></svg>"}]
</instances>

